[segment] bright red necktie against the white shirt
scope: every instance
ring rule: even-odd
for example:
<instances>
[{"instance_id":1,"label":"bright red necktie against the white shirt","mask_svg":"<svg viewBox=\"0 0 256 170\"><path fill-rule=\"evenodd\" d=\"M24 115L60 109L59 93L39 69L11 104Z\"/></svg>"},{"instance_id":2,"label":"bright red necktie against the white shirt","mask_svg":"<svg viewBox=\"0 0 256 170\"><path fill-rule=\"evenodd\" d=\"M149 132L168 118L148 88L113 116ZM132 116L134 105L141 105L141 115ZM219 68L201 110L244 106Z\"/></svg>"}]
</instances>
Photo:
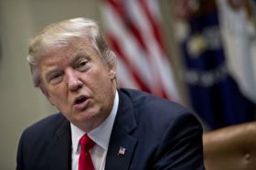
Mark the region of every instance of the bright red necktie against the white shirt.
<instances>
[{"instance_id":1,"label":"bright red necktie against the white shirt","mask_svg":"<svg viewBox=\"0 0 256 170\"><path fill-rule=\"evenodd\" d=\"M95 143L87 134L80 138L79 170L94 170L89 150Z\"/></svg>"}]
</instances>

